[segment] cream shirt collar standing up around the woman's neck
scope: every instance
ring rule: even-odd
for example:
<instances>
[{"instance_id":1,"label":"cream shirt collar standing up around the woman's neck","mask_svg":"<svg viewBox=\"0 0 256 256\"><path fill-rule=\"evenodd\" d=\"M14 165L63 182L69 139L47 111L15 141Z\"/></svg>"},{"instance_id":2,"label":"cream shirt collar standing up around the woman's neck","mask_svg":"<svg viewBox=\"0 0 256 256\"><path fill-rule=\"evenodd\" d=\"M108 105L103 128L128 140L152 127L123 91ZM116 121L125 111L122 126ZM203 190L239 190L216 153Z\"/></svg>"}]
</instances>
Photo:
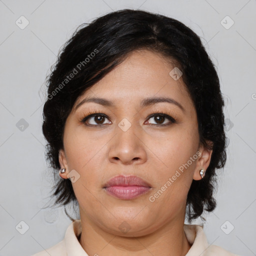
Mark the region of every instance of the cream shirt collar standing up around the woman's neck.
<instances>
[{"instance_id":1,"label":"cream shirt collar standing up around the woman's neck","mask_svg":"<svg viewBox=\"0 0 256 256\"><path fill-rule=\"evenodd\" d=\"M67 256L88 256L77 237L81 233L81 220L76 219L67 227L65 232L65 247ZM203 255L208 247L206 236L200 225L184 224L184 232L191 247L185 256Z\"/></svg>"}]
</instances>

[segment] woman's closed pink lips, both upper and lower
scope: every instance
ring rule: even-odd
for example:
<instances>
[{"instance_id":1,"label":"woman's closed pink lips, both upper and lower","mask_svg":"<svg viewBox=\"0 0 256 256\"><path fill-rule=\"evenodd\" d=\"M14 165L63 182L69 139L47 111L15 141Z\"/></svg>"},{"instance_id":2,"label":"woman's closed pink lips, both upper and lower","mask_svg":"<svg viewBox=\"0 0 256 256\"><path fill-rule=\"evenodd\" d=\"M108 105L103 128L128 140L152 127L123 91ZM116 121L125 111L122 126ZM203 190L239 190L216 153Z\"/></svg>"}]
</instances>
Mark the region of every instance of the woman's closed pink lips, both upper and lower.
<instances>
[{"instance_id":1,"label":"woman's closed pink lips, both upper and lower","mask_svg":"<svg viewBox=\"0 0 256 256\"><path fill-rule=\"evenodd\" d=\"M130 200L151 189L151 185L138 176L115 176L103 186L104 190L119 199Z\"/></svg>"}]
</instances>

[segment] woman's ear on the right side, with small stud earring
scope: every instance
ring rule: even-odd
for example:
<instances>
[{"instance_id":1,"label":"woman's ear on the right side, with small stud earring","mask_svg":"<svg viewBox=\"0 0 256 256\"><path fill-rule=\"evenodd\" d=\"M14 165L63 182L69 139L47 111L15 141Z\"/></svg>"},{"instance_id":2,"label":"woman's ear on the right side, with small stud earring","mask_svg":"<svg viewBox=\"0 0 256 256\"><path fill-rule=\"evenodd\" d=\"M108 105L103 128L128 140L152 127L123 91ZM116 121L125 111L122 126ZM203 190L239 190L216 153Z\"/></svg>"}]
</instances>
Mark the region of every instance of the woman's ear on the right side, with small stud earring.
<instances>
[{"instance_id":1,"label":"woman's ear on the right side, with small stud earring","mask_svg":"<svg viewBox=\"0 0 256 256\"><path fill-rule=\"evenodd\" d=\"M212 141L208 140L207 143L209 145L212 145ZM199 180L202 178L199 173L200 169L204 170L203 176L205 175L206 169L208 168L208 166L210 164L212 149L208 149L206 146L204 146L200 143L197 151L200 153L198 153L199 157L196 162L195 169L194 169L194 174L193 174L194 180Z\"/></svg>"}]
</instances>

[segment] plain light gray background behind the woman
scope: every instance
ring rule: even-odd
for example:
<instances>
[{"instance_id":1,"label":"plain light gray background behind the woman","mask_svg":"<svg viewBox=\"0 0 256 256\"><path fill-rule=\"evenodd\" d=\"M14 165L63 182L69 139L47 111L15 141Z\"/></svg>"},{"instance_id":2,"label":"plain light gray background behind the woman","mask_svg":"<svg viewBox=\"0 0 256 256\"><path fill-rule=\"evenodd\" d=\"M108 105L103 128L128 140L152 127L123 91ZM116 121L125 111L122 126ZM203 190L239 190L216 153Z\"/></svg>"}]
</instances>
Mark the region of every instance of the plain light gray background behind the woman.
<instances>
[{"instance_id":1,"label":"plain light gray background behind the woman","mask_svg":"<svg viewBox=\"0 0 256 256\"><path fill-rule=\"evenodd\" d=\"M63 208L41 209L52 180L41 132L43 83L79 24L121 8L174 17L201 36L217 66L230 139L204 230L209 243L256 255L255 0L0 0L0 255L31 255L64 237L70 220ZM29 21L24 29L15 23L21 15ZM21 220L29 226L24 234L15 229Z\"/></svg>"}]
</instances>

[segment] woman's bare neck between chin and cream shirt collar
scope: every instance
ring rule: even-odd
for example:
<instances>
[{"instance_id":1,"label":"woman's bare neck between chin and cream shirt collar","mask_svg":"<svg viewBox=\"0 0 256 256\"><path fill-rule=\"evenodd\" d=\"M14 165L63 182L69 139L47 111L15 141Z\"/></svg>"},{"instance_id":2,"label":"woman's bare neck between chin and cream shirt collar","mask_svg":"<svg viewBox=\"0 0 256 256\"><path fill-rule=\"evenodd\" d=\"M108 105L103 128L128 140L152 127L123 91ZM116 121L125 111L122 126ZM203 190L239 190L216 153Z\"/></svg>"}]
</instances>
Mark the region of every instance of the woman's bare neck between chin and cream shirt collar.
<instances>
[{"instance_id":1,"label":"woman's bare neck between chin and cream shirt collar","mask_svg":"<svg viewBox=\"0 0 256 256\"><path fill-rule=\"evenodd\" d=\"M79 242L88 255L185 255L191 245L183 229L184 219L173 219L154 232L143 236L121 236L108 233L81 216Z\"/></svg>"}]
</instances>

